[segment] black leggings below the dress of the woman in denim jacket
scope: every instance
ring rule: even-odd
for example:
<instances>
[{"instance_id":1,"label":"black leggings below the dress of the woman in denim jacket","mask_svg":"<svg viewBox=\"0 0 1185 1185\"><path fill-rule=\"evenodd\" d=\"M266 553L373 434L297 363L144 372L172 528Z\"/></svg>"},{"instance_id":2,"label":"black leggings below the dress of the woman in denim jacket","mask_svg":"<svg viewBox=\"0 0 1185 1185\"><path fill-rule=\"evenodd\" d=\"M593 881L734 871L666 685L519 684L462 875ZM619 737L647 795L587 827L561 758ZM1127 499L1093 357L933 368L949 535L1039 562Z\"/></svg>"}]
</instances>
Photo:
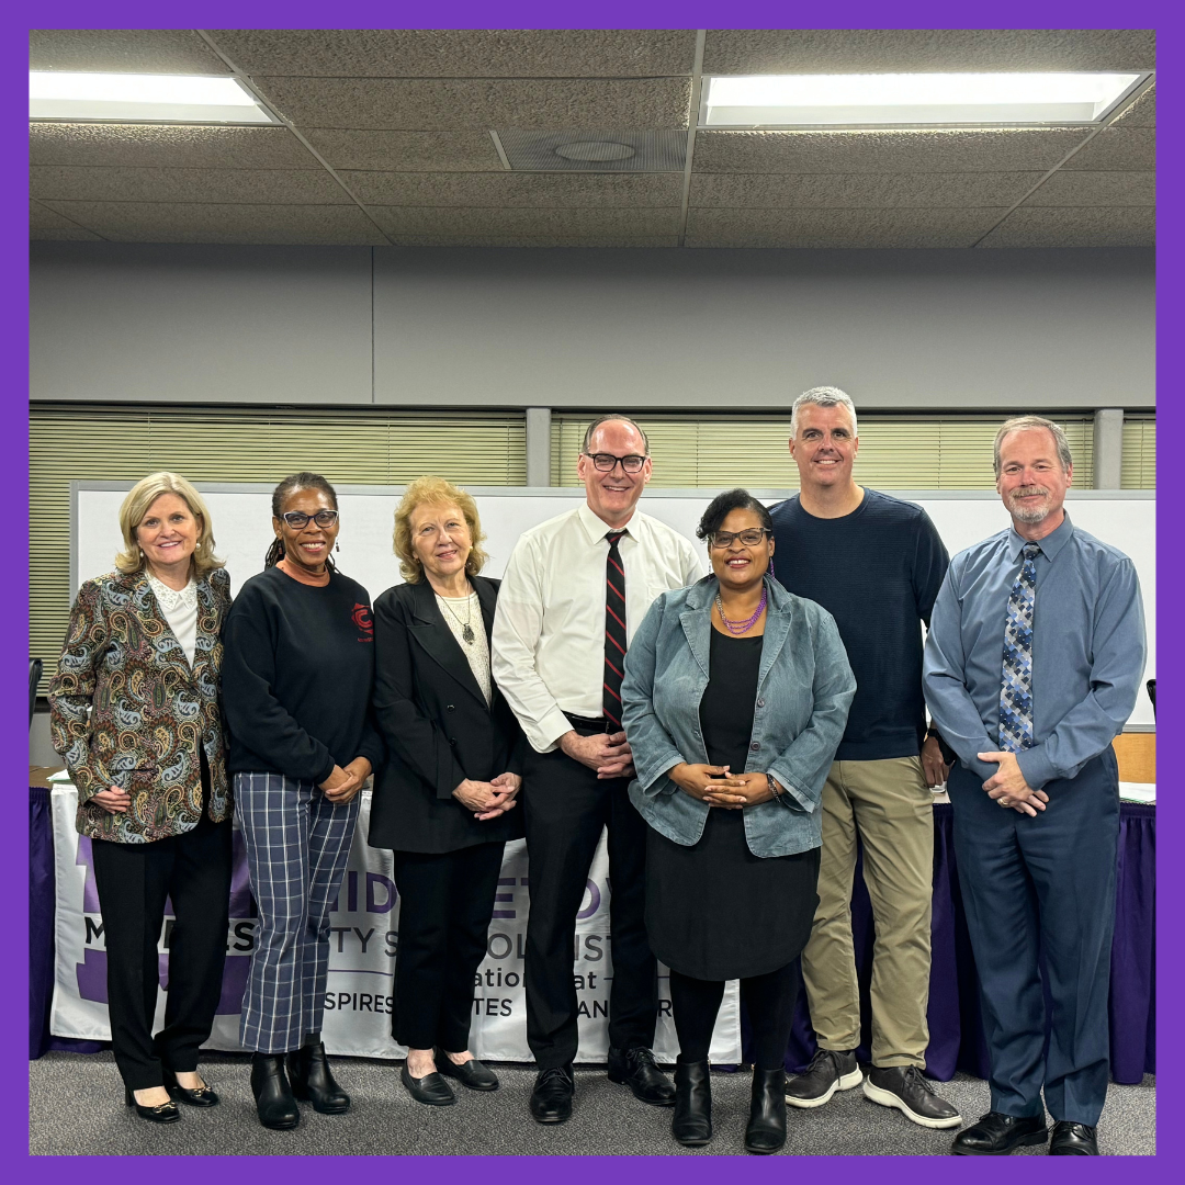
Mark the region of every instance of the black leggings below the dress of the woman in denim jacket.
<instances>
[{"instance_id":1,"label":"black leggings below the dress of the woman in denim jacket","mask_svg":"<svg viewBox=\"0 0 1185 1185\"><path fill-rule=\"evenodd\" d=\"M780 1070L790 1039L794 1004L799 995L795 959L766 975L741 980L741 999L752 1026L752 1064L758 1070ZM671 1011L679 1035L680 1062L706 1062L716 1014L724 999L724 980L692 979L671 972Z\"/></svg>"}]
</instances>

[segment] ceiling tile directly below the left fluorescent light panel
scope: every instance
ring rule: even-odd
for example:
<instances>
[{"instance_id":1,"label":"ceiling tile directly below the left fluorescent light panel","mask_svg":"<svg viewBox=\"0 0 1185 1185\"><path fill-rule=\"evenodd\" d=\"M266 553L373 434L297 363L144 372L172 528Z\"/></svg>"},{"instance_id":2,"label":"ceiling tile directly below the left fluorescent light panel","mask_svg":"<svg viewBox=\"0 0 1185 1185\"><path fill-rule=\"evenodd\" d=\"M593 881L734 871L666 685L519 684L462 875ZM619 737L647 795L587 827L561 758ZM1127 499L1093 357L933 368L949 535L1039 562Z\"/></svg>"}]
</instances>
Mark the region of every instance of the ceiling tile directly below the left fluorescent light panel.
<instances>
[{"instance_id":1,"label":"ceiling tile directly below the left fluorescent light panel","mask_svg":"<svg viewBox=\"0 0 1185 1185\"><path fill-rule=\"evenodd\" d=\"M309 168L316 158L287 128L150 123L30 123L32 165L155 168Z\"/></svg>"}]
</instances>

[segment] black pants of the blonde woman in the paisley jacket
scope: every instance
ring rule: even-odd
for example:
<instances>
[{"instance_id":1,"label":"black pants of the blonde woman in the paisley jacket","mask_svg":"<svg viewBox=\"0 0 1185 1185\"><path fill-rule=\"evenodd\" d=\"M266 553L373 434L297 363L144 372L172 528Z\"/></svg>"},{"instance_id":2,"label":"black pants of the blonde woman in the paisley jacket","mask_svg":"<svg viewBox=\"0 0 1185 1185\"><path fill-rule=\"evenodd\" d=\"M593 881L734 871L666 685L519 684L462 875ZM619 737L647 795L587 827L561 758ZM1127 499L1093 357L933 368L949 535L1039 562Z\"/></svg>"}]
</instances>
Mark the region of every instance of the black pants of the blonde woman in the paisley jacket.
<instances>
[{"instance_id":1,"label":"black pants of the blonde woman in the paisley jacket","mask_svg":"<svg viewBox=\"0 0 1185 1185\"><path fill-rule=\"evenodd\" d=\"M230 921L231 821L205 813L184 835L150 844L91 840L107 942L107 1006L115 1064L129 1090L164 1084L161 1068L198 1068L222 995ZM165 1027L153 1039L156 943L172 898Z\"/></svg>"}]
</instances>

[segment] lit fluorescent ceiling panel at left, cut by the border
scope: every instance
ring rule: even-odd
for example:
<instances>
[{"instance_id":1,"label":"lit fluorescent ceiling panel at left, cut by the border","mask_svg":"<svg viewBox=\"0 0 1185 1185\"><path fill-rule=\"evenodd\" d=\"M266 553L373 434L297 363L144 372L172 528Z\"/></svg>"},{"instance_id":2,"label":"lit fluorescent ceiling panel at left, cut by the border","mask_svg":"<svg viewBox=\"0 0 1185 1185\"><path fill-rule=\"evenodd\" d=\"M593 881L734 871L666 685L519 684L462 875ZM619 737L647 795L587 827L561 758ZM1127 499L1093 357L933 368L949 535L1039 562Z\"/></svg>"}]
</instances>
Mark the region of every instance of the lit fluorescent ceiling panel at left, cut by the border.
<instances>
[{"instance_id":1,"label":"lit fluorescent ceiling panel at left, cut by the border","mask_svg":"<svg viewBox=\"0 0 1185 1185\"><path fill-rule=\"evenodd\" d=\"M28 73L31 120L91 123L278 123L225 75Z\"/></svg>"}]
</instances>

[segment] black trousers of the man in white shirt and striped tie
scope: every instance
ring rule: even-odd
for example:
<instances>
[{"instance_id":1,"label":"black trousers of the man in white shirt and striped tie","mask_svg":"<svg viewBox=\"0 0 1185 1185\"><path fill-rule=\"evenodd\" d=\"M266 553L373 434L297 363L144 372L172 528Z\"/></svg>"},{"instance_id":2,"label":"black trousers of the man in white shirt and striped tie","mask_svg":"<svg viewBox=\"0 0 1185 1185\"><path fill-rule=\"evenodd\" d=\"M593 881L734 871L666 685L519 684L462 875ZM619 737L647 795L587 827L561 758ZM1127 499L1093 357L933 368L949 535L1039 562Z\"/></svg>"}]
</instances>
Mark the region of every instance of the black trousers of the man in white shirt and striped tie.
<instances>
[{"instance_id":1,"label":"black trousers of the man in white shirt and striped tie","mask_svg":"<svg viewBox=\"0 0 1185 1185\"><path fill-rule=\"evenodd\" d=\"M654 1044L658 966L646 937L646 821L629 801L629 779L596 770L559 750L529 750L523 770L531 912L526 925L526 1039L540 1070L576 1057L572 982L576 915L589 867L609 828L609 1044Z\"/></svg>"}]
</instances>

